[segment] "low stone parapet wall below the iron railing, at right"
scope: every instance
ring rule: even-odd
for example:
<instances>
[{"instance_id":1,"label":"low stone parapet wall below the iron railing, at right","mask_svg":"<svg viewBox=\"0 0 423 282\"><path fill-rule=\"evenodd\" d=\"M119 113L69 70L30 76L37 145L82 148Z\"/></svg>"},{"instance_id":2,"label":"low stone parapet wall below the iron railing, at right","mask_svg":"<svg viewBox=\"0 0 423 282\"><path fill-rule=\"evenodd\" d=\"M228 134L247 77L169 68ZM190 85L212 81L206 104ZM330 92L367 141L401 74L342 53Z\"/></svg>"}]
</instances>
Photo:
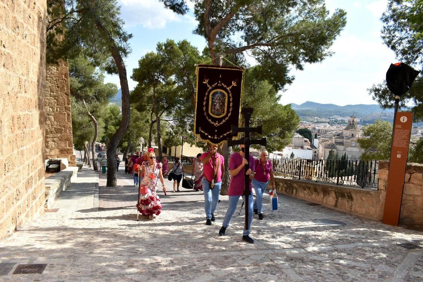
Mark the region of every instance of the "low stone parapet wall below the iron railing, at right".
<instances>
[{"instance_id":1,"label":"low stone parapet wall below the iron railing, at right","mask_svg":"<svg viewBox=\"0 0 423 282\"><path fill-rule=\"evenodd\" d=\"M379 162L379 190L276 177L277 192L381 221L389 162ZM423 164L407 164L399 225L423 225Z\"/></svg>"}]
</instances>

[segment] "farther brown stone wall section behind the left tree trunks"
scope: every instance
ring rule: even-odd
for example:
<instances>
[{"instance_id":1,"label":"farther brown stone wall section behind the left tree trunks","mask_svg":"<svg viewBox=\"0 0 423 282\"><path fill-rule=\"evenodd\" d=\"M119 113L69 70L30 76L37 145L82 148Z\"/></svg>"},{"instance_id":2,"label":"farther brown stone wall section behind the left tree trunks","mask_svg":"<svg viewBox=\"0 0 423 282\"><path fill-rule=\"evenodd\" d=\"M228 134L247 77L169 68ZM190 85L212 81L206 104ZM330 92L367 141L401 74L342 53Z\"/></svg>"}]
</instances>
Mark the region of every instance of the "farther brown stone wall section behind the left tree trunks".
<instances>
[{"instance_id":1,"label":"farther brown stone wall section behind the left tree trunks","mask_svg":"<svg viewBox=\"0 0 423 282\"><path fill-rule=\"evenodd\" d=\"M66 158L71 167L76 166L72 140L69 66L66 60L47 66L45 112L45 158Z\"/></svg>"}]
</instances>

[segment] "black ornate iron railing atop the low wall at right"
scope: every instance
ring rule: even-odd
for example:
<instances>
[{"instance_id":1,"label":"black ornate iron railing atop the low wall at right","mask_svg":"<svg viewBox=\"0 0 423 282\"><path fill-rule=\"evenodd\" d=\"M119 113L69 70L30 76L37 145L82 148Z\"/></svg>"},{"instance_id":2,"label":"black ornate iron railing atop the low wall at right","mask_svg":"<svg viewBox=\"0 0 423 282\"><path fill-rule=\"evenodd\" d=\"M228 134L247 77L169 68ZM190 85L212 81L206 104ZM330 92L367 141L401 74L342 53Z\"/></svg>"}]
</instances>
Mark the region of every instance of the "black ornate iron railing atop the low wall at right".
<instances>
[{"instance_id":1,"label":"black ornate iron railing atop the low wall at right","mask_svg":"<svg viewBox=\"0 0 423 282\"><path fill-rule=\"evenodd\" d=\"M270 159L276 176L378 189L378 161Z\"/></svg>"}]
</instances>

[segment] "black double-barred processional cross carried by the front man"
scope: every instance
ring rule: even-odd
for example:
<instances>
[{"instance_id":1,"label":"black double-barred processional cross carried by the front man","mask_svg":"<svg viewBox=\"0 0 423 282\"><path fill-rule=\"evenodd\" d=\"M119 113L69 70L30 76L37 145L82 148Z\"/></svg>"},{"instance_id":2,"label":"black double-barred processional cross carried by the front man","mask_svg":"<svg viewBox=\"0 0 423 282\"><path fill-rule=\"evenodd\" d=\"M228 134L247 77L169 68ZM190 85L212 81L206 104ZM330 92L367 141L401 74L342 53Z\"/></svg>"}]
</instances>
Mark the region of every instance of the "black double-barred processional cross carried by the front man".
<instances>
[{"instance_id":1,"label":"black double-barred processional cross carried by the front man","mask_svg":"<svg viewBox=\"0 0 423 282\"><path fill-rule=\"evenodd\" d=\"M245 145L245 158L248 161L248 164L245 165L245 171L250 168L250 145L258 144L266 146L266 138L261 138L259 140L251 140L250 132L257 132L261 134L261 126L250 127L250 118L253 113L253 108L242 108L241 113L244 115L244 124L245 127L236 127L232 126L232 135L236 135L239 132L245 132L245 137L239 140L231 140L228 138L228 146L233 145ZM248 196L250 196L250 175L245 175L244 180L244 196L245 196L245 230L248 230Z\"/></svg>"}]
</instances>

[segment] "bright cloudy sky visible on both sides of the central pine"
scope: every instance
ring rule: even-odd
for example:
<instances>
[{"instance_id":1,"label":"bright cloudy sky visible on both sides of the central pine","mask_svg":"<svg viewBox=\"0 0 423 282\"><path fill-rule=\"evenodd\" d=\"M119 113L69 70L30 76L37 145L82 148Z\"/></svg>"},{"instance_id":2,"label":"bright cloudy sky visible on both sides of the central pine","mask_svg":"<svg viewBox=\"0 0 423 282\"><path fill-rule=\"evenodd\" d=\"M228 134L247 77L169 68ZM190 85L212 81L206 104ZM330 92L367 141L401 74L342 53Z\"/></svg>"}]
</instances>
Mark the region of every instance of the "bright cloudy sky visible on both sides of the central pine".
<instances>
[{"instance_id":1,"label":"bright cloudy sky visible on both sides of the central pine","mask_svg":"<svg viewBox=\"0 0 423 282\"><path fill-rule=\"evenodd\" d=\"M129 42L132 53L125 60L130 90L136 85L129 78L132 69L146 52L155 50L157 42L187 39L200 51L206 46L201 36L192 34L196 27L192 14L176 15L158 0L118 2L125 28L134 36ZM303 71L293 69L295 80L282 93L280 103L376 104L366 89L381 82L390 63L396 62L394 53L380 37L379 19L387 0L326 0L326 5L331 13L336 8L347 12L347 25L331 48L335 54L322 63L306 64ZM106 82L116 83L120 88L116 75L108 75Z\"/></svg>"}]
</instances>

